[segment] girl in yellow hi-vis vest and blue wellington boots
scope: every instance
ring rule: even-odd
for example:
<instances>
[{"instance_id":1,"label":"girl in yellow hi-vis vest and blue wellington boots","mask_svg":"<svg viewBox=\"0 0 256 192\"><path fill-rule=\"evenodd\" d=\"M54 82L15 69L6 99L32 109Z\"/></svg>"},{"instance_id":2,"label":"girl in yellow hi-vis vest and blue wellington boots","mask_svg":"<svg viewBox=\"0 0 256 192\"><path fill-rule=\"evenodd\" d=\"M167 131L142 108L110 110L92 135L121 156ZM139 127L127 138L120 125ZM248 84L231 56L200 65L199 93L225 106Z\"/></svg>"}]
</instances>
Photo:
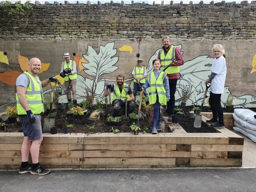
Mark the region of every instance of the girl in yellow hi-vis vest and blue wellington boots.
<instances>
[{"instance_id":1,"label":"girl in yellow hi-vis vest and blue wellington boots","mask_svg":"<svg viewBox=\"0 0 256 192\"><path fill-rule=\"evenodd\" d=\"M160 105L166 105L170 99L169 81L166 73L161 71L159 59L153 60L154 72L148 74L148 80L143 86L149 87L149 104L154 105L152 134L157 134L157 130L161 130L161 112Z\"/></svg>"}]
</instances>

